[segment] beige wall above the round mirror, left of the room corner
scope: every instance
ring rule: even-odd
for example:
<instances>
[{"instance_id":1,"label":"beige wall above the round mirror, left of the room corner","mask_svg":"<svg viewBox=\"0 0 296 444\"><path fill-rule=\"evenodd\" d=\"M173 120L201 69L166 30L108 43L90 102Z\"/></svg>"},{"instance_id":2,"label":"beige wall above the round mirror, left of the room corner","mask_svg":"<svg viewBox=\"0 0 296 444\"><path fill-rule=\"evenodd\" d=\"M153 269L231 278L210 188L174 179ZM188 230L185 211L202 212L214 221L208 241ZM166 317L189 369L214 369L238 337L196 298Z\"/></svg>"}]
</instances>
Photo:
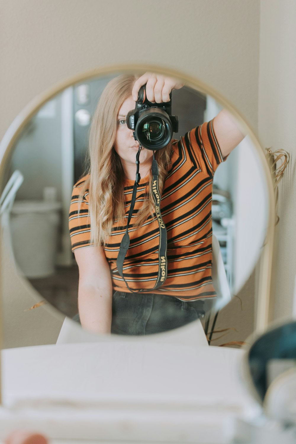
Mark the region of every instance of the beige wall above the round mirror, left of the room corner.
<instances>
[{"instance_id":1,"label":"beige wall above the round mirror, left of the room corner","mask_svg":"<svg viewBox=\"0 0 296 444\"><path fill-rule=\"evenodd\" d=\"M259 0L2 0L0 137L55 83L129 62L195 75L256 130L259 13Z\"/></svg>"}]
</instances>

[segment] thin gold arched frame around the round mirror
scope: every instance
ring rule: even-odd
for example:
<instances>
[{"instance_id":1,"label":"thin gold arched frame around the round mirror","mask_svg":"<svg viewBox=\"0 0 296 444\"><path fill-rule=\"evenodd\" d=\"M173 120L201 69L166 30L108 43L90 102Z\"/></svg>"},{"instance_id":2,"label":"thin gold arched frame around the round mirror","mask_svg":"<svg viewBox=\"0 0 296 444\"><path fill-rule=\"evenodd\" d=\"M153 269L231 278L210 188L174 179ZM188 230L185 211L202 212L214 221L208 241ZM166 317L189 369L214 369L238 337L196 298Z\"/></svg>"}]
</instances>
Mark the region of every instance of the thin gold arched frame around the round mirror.
<instances>
[{"instance_id":1,"label":"thin gold arched frame around the round mirror","mask_svg":"<svg viewBox=\"0 0 296 444\"><path fill-rule=\"evenodd\" d=\"M125 65L109 65L106 67L100 67L92 69L90 71L83 72L82 74L74 75L62 82L50 87L47 91L37 95L30 103L16 116L11 123L10 127L6 131L2 141L0 142L0 189L4 187L4 166L15 146L19 135L26 127L29 120L35 115L35 113L43 106L45 102L52 99L55 95L63 91L65 88L72 86L74 83L80 83L88 79L93 79L98 76L110 75L116 72L129 73L129 72L144 72L153 71L176 77L182 81L186 86L191 87L196 91L200 91L203 94L211 95L216 99L223 107L225 107L234 117L244 133L248 134L250 140L253 143L257 151L258 158L261 160L262 171L265 174L265 181L268 190L268 228L264 249L260 258L260 276L258 284L258 299L256 306L256 322L255 332L257 334L263 332L269 320L269 299L270 299L270 281L271 281L271 267L272 267L272 253L273 253L273 238L274 238L274 220L275 220L275 198L273 193L273 179L269 170L269 165L265 158L264 150L257 140L256 135L249 125L242 118L241 114L234 108L234 106L228 102L222 95L213 88L207 86L205 83L189 76L181 71L175 71L166 67L146 65L146 64L125 64ZM1 258L0 258L1 259ZM0 294L0 315L2 314L2 294ZM3 329L0 325L0 345L2 348ZM1 386L0 386L1 388Z\"/></svg>"}]
</instances>

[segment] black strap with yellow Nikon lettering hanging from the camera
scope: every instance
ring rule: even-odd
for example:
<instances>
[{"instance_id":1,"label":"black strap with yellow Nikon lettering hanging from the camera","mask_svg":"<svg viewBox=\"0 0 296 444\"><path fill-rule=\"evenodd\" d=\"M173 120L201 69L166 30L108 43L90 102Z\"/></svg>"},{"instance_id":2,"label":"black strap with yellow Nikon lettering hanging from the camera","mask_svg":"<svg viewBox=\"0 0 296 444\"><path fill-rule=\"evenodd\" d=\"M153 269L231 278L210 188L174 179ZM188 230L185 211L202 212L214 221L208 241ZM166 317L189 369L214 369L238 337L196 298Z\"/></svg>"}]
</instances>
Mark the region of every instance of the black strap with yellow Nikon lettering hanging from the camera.
<instances>
[{"instance_id":1,"label":"black strap with yellow Nikon lettering hanging from the camera","mask_svg":"<svg viewBox=\"0 0 296 444\"><path fill-rule=\"evenodd\" d=\"M150 289L133 290L129 287L129 284L127 283L127 281L125 280L125 277L123 275L123 262L125 260L125 256L127 254L127 251L129 250L129 242L130 242L129 222L131 221L131 218L132 218L132 212L133 212L135 202L136 202L136 190L137 190L137 187L139 186L139 182L140 182L139 157L140 157L141 149L142 149L142 147L140 146L139 150L136 154L136 180L135 180L134 187L132 190L132 201L131 201L131 205L129 208L129 216L128 216L128 222L127 222L127 226L126 226L126 232L121 240L119 253L118 253L117 261L116 261L118 273L123 278L126 286L128 287L128 289L132 293L142 293L144 291L148 292L148 291L157 289L158 287L160 287L160 285L162 285L164 283L164 281L167 278L167 230L166 230L166 227L164 225L164 221L162 220L161 213L160 213L160 190L159 190L159 185L158 185L159 173L158 173L158 165L157 165L156 159L154 157L154 152L153 152L153 159L152 159L152 183L150 184L150 186L152 187L152 195L153 195L153 199L154 199L154 203L155 203L156 219L157 219L157 222L159 224L159 229L160 229L160 243L159 243L159 247L158 247L158 275L157 275L156 283L155 283L154 287L150 288Z\"/></svg>"}]
</instances>

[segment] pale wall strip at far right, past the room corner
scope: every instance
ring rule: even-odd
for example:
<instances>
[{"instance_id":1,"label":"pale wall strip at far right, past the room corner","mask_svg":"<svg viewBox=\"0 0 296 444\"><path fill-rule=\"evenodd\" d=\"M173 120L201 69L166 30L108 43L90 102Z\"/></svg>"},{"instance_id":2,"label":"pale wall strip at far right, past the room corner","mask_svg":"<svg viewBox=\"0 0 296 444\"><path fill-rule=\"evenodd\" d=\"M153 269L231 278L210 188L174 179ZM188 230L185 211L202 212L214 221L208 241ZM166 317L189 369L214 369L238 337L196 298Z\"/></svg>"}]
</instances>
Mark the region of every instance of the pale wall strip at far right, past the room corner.
<instances>
[{"instance_id":1,"label":"pale wall strip at far right, past the room corner","mask_svg":"<svg viewBox=\"0 0 296 444\"><path fill-rule=\"evenodd\" d=\"M296 2L261 0L259 69L259 135L264 147L291 155L279 184L274 251L273 317L292 313L296 274Z\"/></svg>"}]
</instances>

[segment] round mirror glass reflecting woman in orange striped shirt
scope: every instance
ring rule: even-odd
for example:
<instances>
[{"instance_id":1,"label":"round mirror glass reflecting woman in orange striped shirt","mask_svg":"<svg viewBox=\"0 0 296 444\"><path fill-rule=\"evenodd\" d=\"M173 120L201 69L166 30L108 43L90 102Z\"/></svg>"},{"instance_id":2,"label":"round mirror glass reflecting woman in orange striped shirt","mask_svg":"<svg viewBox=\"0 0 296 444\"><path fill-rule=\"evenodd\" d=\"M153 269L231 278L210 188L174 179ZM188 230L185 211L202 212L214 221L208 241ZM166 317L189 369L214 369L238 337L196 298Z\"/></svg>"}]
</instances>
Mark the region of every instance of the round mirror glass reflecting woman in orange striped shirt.
<instances>
[{"instance_id":1,"label":"round mirror glass reflecting woman in orange striped shirt","mask_svg":"<svg viewBox=\"0 0 296 444\"><path fill-rule=\"evenodd\" d=\"M256 149L236 120L174 79L138 77L87 79L53 97L27 124L9 165L21 175L2 218L11 233L6 248L47 301L96 333L111 324L113 333L141 335L204 321L248 279L267 227ZM139 147L126 115L142 85L152 106L168 103L172 89L171 113L179 117L172 140L155 151L167 232L167 277L157 288L164 255L150 187L153 151L144 143L123 277L117 267Z\"/></svg>"}]
</instances>

